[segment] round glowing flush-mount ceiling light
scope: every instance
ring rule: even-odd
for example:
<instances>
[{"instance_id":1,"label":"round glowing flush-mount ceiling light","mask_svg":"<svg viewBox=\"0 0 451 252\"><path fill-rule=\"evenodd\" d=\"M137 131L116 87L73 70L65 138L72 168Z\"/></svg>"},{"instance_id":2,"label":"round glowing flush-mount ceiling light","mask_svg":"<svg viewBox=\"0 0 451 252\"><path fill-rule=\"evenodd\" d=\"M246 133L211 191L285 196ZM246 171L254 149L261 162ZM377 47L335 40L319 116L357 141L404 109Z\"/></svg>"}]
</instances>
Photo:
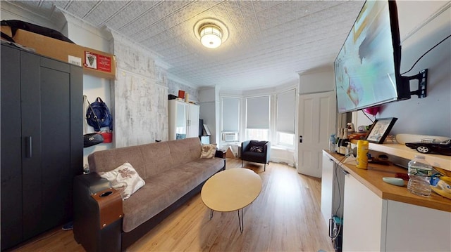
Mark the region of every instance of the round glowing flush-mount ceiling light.
<instances>
[{"instance_id":1,"label":"round glowing flush-mount ceiling light","mask_svg":"<svg viewBox=\"0 0 451 252\"><path fill-rule=\"evenodd\" d=\"M214 18L199 20L194 25L194 35L206 48L217 48L228 39L228 29Z\"/></svg>"}]
</instances>

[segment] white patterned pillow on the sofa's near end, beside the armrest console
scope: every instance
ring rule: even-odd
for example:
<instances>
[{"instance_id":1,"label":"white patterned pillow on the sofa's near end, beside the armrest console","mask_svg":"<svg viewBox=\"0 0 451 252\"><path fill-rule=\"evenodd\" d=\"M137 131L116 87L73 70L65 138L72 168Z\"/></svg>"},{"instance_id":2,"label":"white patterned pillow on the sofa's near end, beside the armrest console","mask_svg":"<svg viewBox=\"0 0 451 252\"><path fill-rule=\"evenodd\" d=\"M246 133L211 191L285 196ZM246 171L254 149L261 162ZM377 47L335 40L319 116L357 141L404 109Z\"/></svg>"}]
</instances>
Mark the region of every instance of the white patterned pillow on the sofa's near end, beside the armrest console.
<instances>
[{"instance_id":1,"label":"white patterned pillow on the sofa's near end, beside the armrest console","mask_svg":"<svg viewBox=\"0 0 451 252\"><path fill-rule=\"evenodd\" d=\"M123 200L146 184L129 163L124 163L113 171L99 172L99 175L110 181L111 187L121 193Z\"/></svg>"}]
</instances>

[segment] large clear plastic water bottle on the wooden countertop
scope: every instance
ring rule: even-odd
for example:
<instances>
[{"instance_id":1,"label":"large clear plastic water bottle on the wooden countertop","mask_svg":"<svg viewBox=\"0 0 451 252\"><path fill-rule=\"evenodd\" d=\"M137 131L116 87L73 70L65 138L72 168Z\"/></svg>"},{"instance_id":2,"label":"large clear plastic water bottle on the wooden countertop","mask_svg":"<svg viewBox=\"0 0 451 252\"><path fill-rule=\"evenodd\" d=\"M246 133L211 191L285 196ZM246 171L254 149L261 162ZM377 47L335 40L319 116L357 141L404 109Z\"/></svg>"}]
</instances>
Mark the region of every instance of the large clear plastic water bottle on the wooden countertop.
<instances>
[{"instance_id":1,"label":"large clear plastic water bottle on the wooden countertop","mask_svg":"<svg viewBox=\"0 0 451 252\"><path fill-rule=\"evenodd\" d=\"M433 172L433 167L423 155L415 155L415 159L409 161L409 183L407 190L413 194L423 197L431 195L429 180Z\"/></svg>"}]
</instances>

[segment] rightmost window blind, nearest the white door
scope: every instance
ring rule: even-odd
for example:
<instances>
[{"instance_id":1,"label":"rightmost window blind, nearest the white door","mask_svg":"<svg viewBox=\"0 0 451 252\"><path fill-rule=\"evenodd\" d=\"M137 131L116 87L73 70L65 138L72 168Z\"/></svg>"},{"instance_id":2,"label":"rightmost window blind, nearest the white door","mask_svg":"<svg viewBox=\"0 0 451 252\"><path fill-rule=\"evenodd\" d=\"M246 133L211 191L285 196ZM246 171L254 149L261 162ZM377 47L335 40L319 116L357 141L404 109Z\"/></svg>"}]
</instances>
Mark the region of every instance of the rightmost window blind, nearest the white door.
<instances>
[{"instance_id":1,"label":"rightmost window blind, nearest the white door","mask_svg":"<svg viewBox=\"0 0 451 252\"><path fill-rule=\"evenodd\" d=\"M277 131L295 133L296 90L277 94Z\"/></svg>"}]
</instances>

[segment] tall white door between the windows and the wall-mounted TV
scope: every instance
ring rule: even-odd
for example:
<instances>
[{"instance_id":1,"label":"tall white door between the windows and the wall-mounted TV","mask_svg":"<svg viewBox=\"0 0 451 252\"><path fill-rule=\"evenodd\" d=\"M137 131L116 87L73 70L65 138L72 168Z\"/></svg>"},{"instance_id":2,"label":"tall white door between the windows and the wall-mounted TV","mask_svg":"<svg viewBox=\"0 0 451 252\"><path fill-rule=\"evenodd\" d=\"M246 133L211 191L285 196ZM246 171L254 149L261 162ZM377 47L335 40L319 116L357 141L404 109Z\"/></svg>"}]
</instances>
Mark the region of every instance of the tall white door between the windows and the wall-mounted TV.
<instances>
[{"instance_id":1,"label":"tall white door between the windows and the wall-mounted TV","mask_svg":"<svg viewBox=\"0 0 451 252\"><path fill-rule=\"evenodd\" d=\"M299 96L297 172L321 178L322 150L335 133L335 92Z\"/></svg>"}]
</instances>

